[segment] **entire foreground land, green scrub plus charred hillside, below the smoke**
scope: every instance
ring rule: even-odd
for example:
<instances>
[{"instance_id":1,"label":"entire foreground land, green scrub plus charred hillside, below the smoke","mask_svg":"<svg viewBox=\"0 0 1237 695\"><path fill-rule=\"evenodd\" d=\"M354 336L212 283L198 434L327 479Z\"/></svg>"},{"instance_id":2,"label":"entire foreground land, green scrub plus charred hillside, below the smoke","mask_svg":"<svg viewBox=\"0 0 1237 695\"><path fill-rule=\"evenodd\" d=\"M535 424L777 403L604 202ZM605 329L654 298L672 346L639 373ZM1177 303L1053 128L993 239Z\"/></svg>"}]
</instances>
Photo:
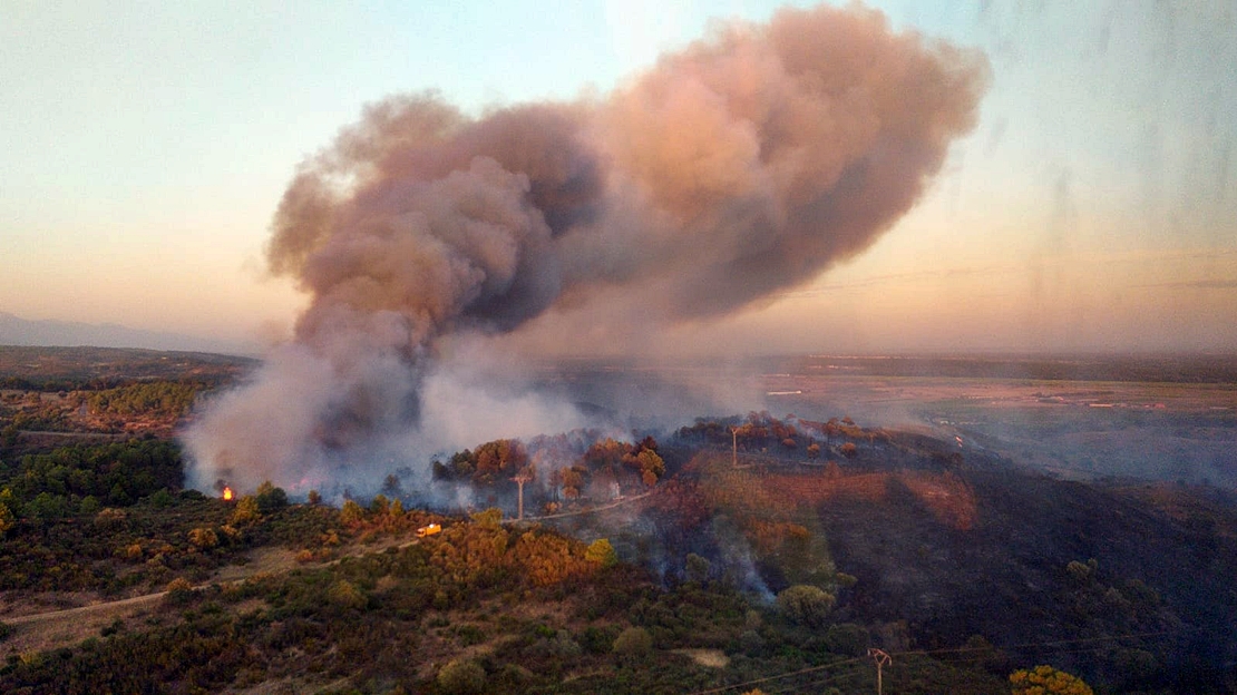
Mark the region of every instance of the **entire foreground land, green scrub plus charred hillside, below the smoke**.
<instances>
[{"instance_id":1,"label":"entire foreground land, green scrub plus charred hillside, below the smoke","mask_svg":"<svg viewBox=\"0 0 1237 695\"><path fill-rule=\"evenodd\" d=\"M17 391L9 424L85 434L74 418L104 407ZM870 693L871 649L886 693L1231 690L1231 508L1133 514L954 441L767 413L433 461L428 485L471 512L422 505L401 471L338 507L270 482L224 501L183 488L161 408L120 441L6 430L5 693ZM1080 545L1086 513L1106 537L1136 524L1147 554Z\"/></svg>"}]
</instances>

